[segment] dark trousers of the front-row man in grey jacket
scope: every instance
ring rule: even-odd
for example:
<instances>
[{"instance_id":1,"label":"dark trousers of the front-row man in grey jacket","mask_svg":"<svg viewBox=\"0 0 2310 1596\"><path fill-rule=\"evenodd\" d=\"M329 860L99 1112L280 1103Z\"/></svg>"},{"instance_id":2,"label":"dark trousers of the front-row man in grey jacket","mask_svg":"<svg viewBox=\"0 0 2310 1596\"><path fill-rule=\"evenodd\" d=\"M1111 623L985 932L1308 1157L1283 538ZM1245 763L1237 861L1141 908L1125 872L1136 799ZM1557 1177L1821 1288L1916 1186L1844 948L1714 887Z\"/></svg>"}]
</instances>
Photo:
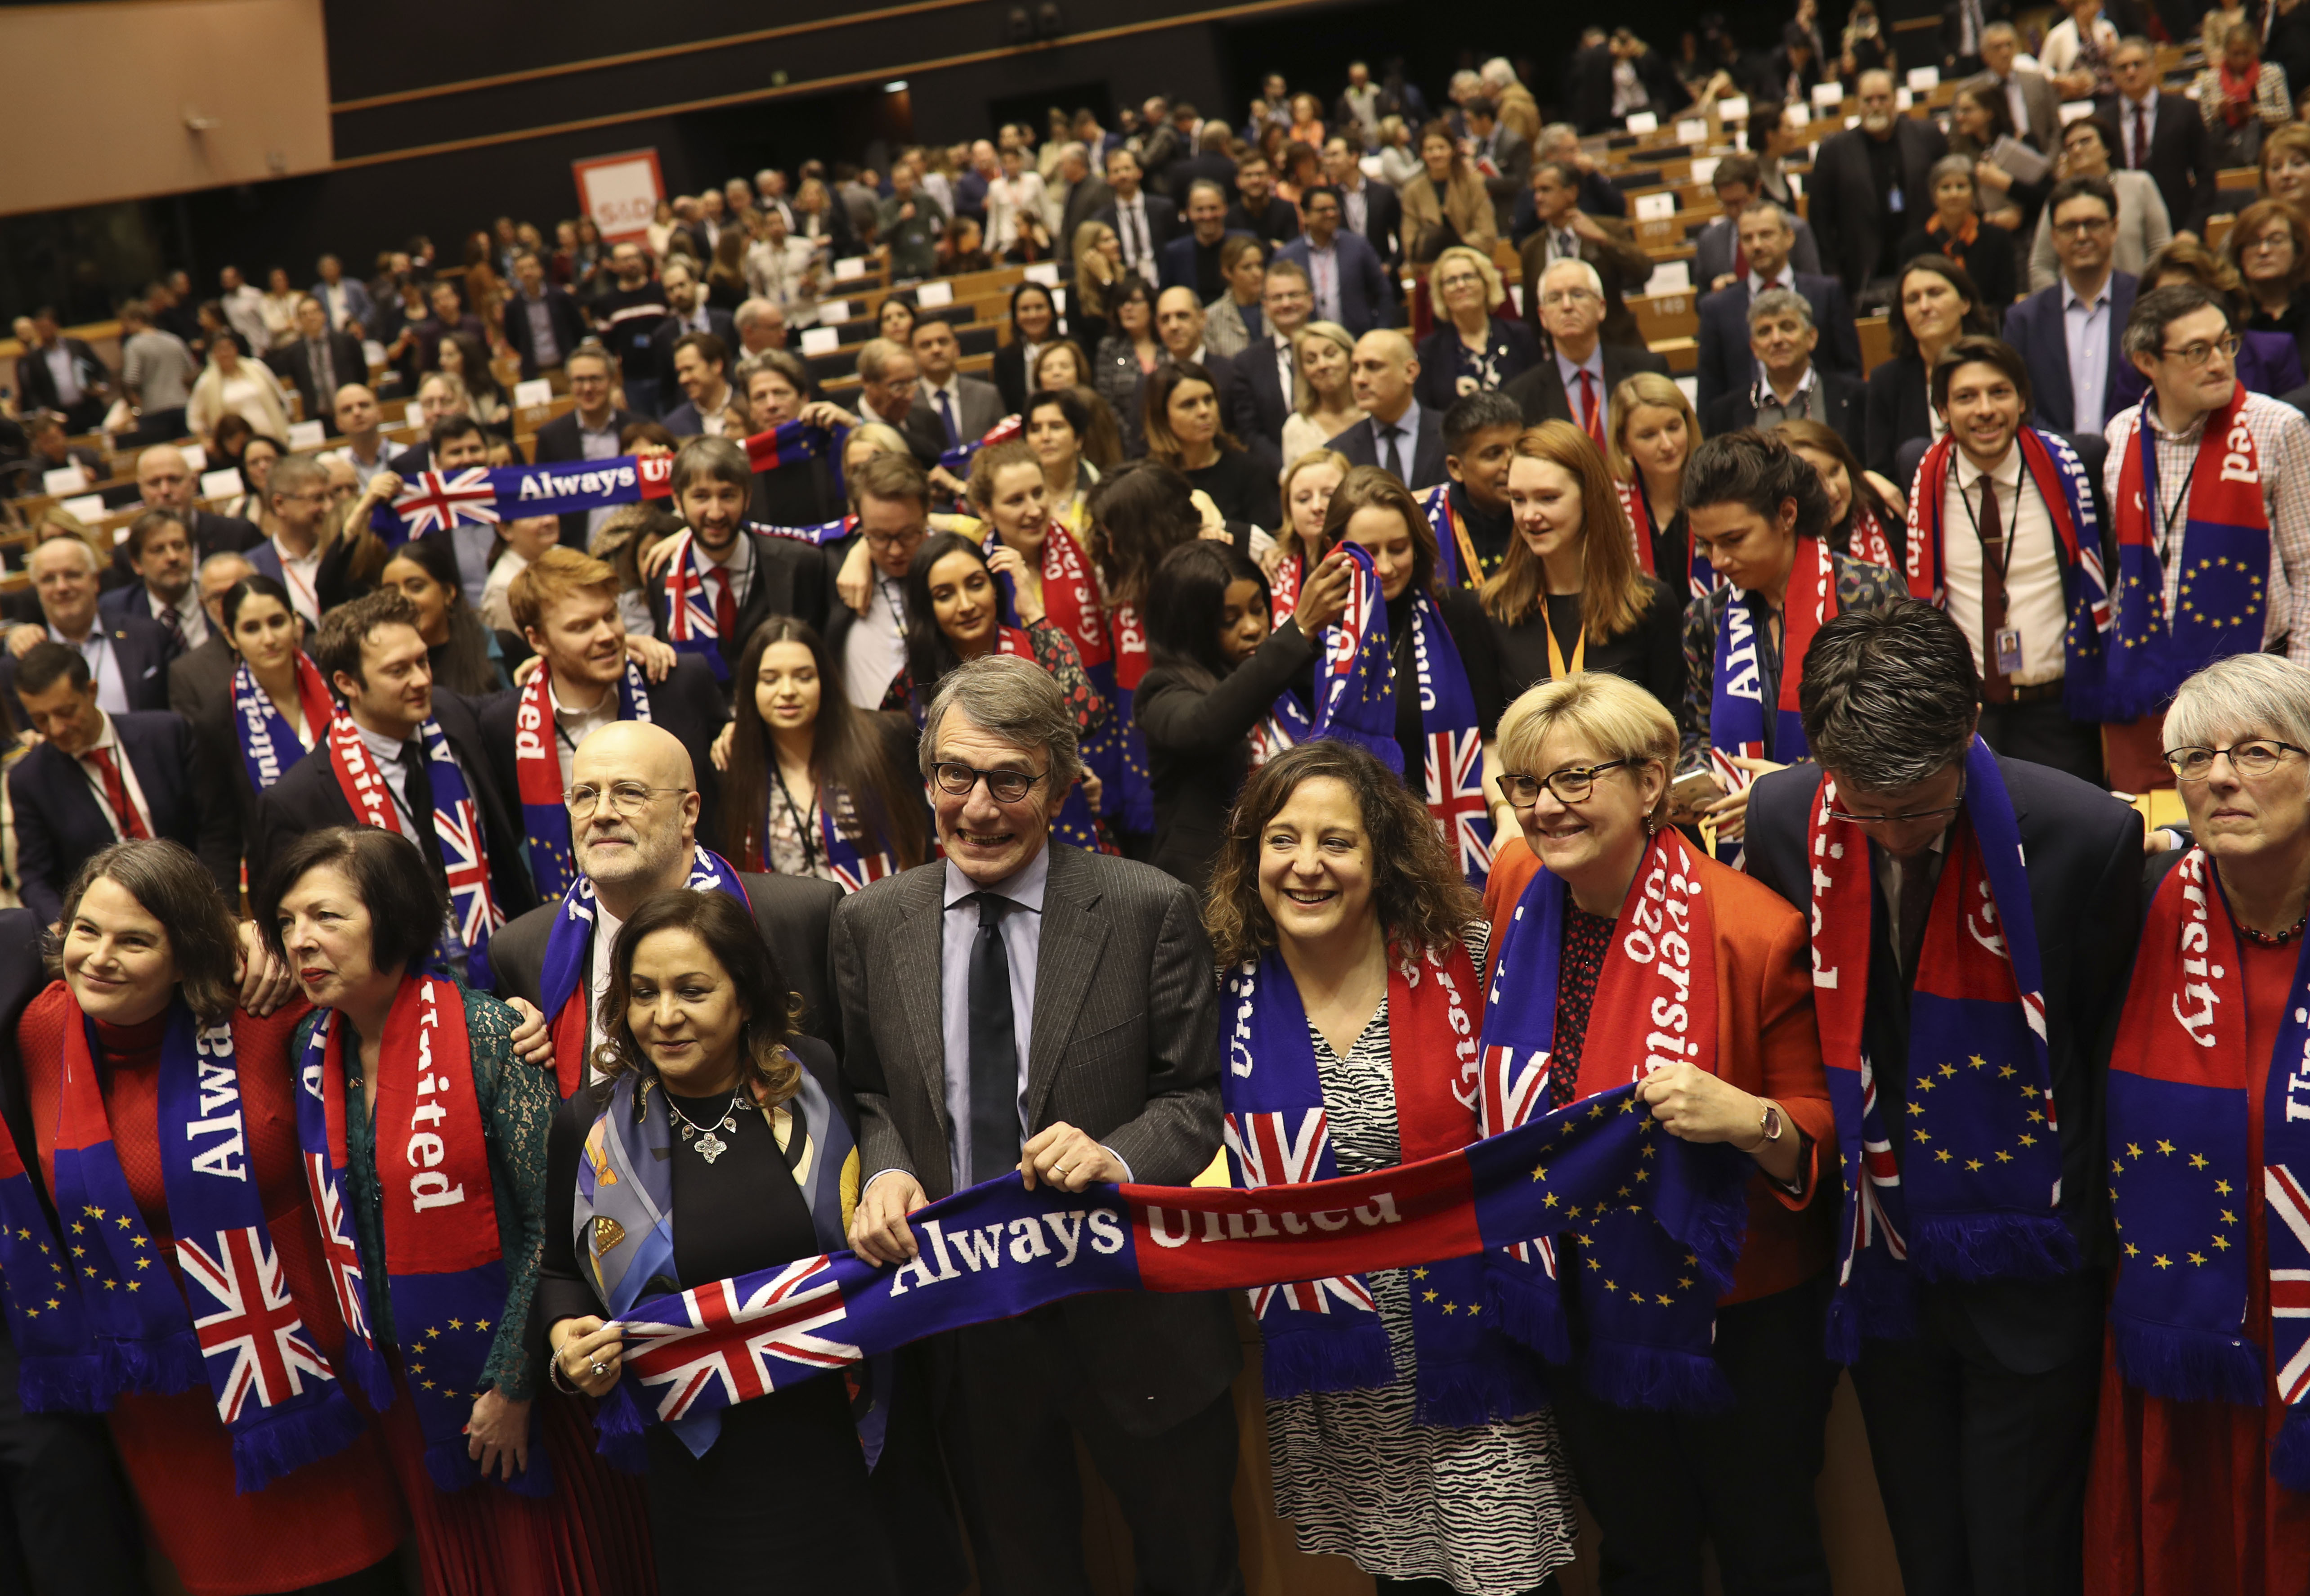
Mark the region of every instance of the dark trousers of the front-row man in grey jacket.
<instances>
[{"instance_id":1,"label":"dark trousers of the front-row man in grey jacket","mask_svg":"<svg viewBox=\"0 0 2310 1596\"><path fill-rule=\"evenodd\" d=\"M940 1356L938 1434L982 1596L1090 1596L1076 1437L1132 1529L1139 1596L1243 1596L1229 1393L1130 1434L1079 1377L1053 1310L956 1330Z\"/></svg>"}]
</instances>

